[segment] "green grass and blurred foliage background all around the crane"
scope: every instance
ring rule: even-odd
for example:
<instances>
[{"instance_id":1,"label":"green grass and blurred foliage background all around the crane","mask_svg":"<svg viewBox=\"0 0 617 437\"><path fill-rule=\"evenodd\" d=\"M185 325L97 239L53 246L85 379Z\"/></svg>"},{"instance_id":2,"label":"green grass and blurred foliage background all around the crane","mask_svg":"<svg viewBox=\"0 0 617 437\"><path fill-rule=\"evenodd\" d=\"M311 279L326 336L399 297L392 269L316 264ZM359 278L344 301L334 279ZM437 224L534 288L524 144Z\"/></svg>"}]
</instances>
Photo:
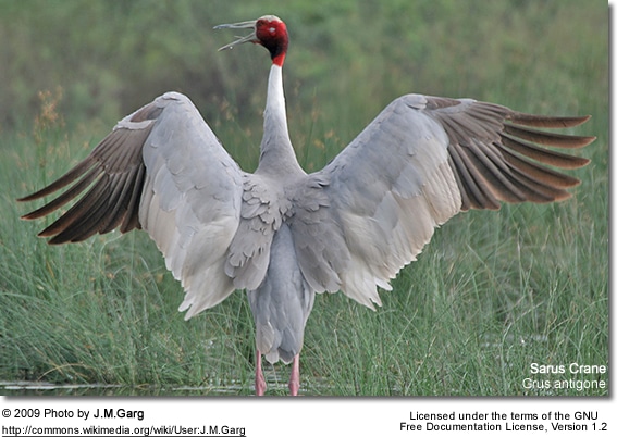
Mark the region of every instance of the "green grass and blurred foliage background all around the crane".
<instances>
[{"instance_id":1,"label":"green grass and blurred foliage background all around the crane","mask_svg":"<svg viewBox=\"0 0 617 437\"><path fill-rule=\"evenodd\" d=\"M601 1L148 2L0 0L0 380L252 392L243 292L189 322L145 233L71 246L36 237L14 199L84 158L116 120L187 93L245 170L257 165L269 60L218 53L229 23L275 13L292 43L289 128L319 170L406 92L592 114L575 197L459 214L383 308L319 296L303 388L335 396L607 395L528 390L532 362L608 362L608 11ZM288 367L268 370L273 394ZM557 376L536 377L538 380ZM593 379L591 376L580 376ZM602 376L607 380L606 375ZM276 382L281 384L275 384Z\"/></svg>"}]
</instances>

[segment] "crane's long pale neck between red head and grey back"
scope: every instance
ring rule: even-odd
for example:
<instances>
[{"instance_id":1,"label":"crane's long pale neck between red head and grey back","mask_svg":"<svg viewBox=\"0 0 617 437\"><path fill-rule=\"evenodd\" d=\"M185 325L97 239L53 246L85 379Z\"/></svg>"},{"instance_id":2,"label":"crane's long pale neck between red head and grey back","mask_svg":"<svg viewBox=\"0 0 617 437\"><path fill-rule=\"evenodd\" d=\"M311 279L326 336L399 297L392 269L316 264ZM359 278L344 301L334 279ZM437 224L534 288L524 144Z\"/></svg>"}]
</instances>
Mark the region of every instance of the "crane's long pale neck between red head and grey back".
<instances>
[{"instance_id":1,"label":"crane's long pale neck between red head and grey back","mask_svg":"<svg viewBox=\"0 0 617 437\"><path fill-rule=\"evenodd\" d=\"M268 97L263 113L263 138L257 173L282 175L304 173L287 130L287 114L283 92L283 66L273 63L268 78Z\"/></svg>"}]
</instances>

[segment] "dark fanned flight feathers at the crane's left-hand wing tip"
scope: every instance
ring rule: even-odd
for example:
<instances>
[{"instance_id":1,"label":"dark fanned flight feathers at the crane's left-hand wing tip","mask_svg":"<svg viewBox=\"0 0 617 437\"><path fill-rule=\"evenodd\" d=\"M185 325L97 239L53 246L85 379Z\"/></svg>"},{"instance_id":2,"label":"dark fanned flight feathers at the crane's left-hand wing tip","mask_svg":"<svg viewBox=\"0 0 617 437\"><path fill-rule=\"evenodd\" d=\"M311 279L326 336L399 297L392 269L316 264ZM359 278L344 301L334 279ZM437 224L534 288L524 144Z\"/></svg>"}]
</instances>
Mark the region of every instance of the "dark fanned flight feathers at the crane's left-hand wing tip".
<instances>
[{"instance_id":1,"label":"dark fanned flight feathers at the crane's left-hand wing tip","mask_svg":"<svg viewBox=\"0 0 617 437\"><path fill-rule=\"evenodd\" d=\"M141 110L137 114L151 116L158 115L158 112ZM141 122L139 120L138 123ZM118 226L123 232L139 226L138 199L145 179L141 150L153 124L133 128L127 123L120 128L116 126L64 176L37 192L17 199L20 202L36 200L69 187L55 199L22 216L23 220L40 218L74 201L69 211L38 234L39 237L52 237L48 242L59 245L82 241Z\"/></svg>"}]
</instances>

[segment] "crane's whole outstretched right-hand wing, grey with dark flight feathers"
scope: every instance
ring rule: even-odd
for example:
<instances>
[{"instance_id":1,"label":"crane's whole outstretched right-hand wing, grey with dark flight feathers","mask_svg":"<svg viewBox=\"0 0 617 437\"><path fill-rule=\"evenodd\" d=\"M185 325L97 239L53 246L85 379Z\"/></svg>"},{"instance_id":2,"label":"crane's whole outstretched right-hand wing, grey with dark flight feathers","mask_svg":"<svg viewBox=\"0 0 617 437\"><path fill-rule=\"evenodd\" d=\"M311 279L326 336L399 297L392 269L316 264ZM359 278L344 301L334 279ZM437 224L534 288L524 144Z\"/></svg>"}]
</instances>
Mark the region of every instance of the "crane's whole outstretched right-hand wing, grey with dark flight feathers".
<instances>
[{"instance_id":1,"label":"crane's whole outstretched right-hand wing, grey with dark flight feathers","mask_svg":"<svg viewBox=\"0 0 617 437\"><path fill-rule=\"evenodd\" d=\"M321 172L294 218L303 274L318 291L342 289L373 308L377 286L416 259L459 211L501 202L551 202L587 159L539 147L578 148L593 137L547 133L589 117L528 115L469 99L408 95L393 101ZM324 207L324 208L322 208Z\"/></svg>"}]
</instances>

